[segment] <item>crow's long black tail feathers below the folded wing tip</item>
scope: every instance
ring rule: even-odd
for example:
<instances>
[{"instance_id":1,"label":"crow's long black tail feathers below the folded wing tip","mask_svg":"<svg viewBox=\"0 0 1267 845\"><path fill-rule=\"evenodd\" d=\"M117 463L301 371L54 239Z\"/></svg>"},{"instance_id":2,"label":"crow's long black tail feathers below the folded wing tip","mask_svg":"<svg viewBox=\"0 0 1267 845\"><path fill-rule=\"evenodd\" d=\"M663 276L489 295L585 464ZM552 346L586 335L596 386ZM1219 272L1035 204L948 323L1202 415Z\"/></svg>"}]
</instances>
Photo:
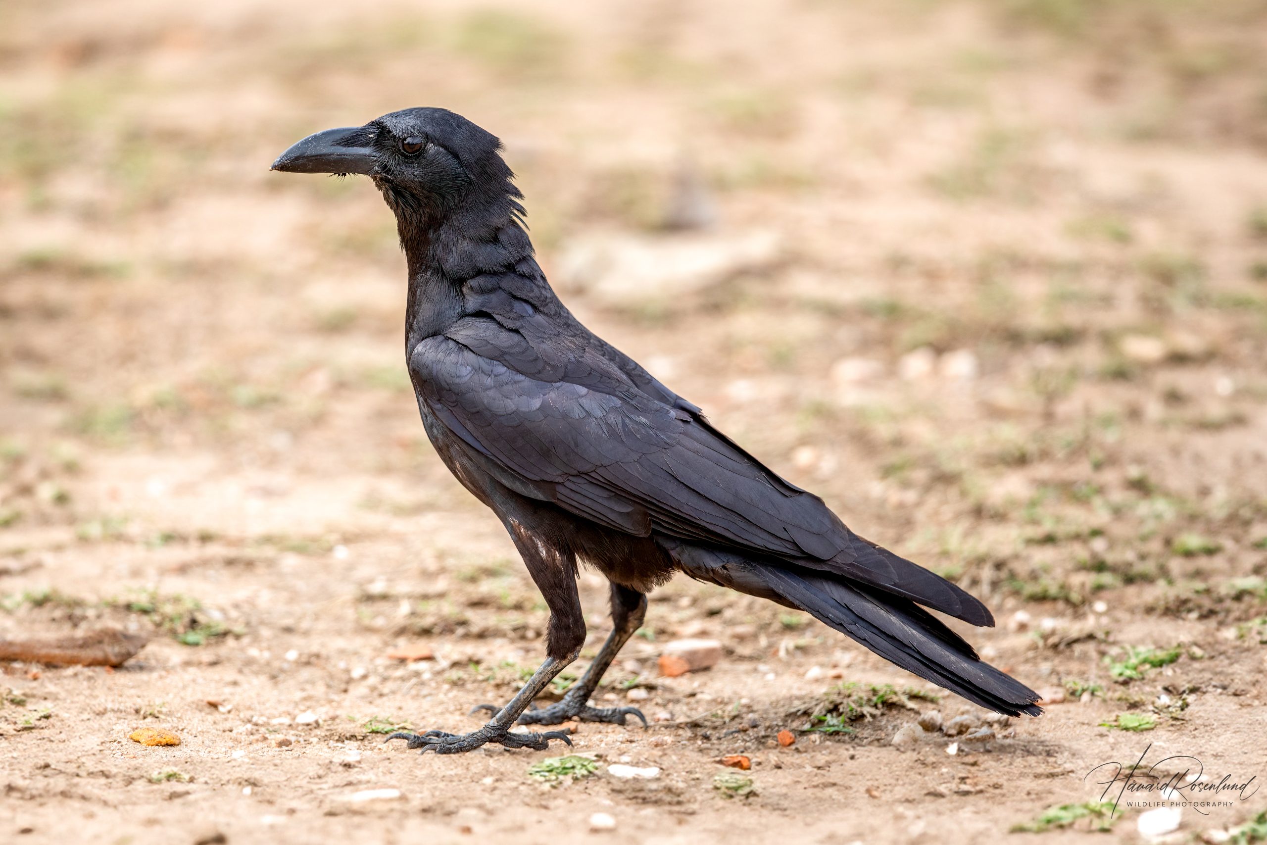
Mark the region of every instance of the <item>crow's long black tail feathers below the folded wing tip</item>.
<instances>
[{"instance_id":1,"label":"crow's long black tail feathers below the folded wing tip","mask_svg":"<svg viewBox=\"0 0 1267 845\"><path fill-rule=\"evenodd\" d=\"M963 637L910 599L832 573L661 538L692 578L813 614L879 656L996 713L1038 716L1038 693L983 663Z\"/></svg>"}]
</instances>

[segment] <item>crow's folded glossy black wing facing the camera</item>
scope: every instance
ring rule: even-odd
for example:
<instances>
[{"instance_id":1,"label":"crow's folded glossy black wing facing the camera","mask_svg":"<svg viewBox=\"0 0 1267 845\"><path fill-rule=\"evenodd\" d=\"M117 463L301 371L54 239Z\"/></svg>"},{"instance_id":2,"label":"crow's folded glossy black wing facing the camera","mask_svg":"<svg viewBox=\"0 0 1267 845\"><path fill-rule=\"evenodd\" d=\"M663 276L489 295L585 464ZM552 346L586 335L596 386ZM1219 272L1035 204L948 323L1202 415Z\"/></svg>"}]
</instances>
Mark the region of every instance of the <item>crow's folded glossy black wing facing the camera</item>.
<instances>
[{"instance_id":1,"label":"crow's folded glossy black wing facing the camera","mask_svg":"<svg viewBox=\"0 0 1267 845\"><path fill-rule=\"evenodd\" d=\"M645 371L612 361L611 347L532 337L466 318L409 359L428 409L512 489L620 531L787 559L992 623L977 599L854 535L693 405L636 384Z\"/></svg>"}]
</instances>

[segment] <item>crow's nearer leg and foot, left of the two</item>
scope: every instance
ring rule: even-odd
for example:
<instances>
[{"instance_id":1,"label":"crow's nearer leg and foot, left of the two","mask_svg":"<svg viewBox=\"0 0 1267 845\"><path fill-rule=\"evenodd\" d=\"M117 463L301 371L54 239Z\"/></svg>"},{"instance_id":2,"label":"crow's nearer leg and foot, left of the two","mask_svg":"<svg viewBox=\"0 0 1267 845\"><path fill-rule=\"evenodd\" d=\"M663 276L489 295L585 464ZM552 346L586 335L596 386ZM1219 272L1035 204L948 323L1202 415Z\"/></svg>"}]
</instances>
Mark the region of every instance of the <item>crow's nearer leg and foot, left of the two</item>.
<instances>
[{"instance_id":1,"label":"crow's nearer leg and foot, left of the two","mask_svg":"<svg viewBox=\"0 0 1267 845\"><path fill-rule=\"evenodd\" d=\"M508 749L536 749L550 746L550 740L571 740L563 731L544 734L512 734L516 721L523 715L532 699L541 694L551 680L580 654L585 642L585 619L580 611L580 597L576 594L576 561L564 550L544 542L517 519L508 519L507 528L523 556L528 574L541 589L541 595L550 608L550 623L546 627L546 661L532 673L511 702L498 709L484 727L471 734L447 734L445 731L426 731L408 734L397 731L388 740L405 740L411 749L422 749L423 754L461 754L478 749L488 742L504 745ZM611 660L608 659L608 663Z\"/></svg>"}]
</instances>

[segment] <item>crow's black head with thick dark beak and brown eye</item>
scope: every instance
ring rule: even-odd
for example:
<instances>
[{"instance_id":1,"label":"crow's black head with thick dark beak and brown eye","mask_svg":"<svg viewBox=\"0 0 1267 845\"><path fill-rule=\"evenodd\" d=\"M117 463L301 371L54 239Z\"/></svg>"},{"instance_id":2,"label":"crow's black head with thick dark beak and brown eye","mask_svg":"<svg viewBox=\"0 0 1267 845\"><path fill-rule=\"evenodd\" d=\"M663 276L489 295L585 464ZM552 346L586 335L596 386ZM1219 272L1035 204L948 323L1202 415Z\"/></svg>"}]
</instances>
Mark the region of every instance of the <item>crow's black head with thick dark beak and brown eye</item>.
<instances>
[{"instance_id":1,"label":"crow's black head with thick dark beak and brown eye","mask_svg":"<svg viewBox=\"0 0 1267 845\"><path fill-rule=\"evenodd\" d=\"M402 226L416 228L455 214L522 213L500 146L447 109L404 109L364 127L308 136L272 170L369 176Z\"/></svg>"}]
</instances>

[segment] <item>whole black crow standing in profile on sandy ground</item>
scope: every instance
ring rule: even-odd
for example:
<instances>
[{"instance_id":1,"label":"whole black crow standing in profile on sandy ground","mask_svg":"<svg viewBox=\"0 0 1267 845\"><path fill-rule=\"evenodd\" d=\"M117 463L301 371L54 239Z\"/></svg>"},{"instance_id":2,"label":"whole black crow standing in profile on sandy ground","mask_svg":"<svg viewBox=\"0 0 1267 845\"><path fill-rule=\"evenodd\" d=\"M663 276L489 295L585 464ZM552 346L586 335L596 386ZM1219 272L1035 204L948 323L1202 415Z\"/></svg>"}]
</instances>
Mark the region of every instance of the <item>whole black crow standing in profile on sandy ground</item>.
<instances>
[{"instance_id":1,"label":"whole black crow standing in profile on sandy ground","mask_svg":"<svg viewBox=\"0 0 1267 845\"><path fill-rule=\"evenodd\" d=\"M569 718L623 723L588 704L674 573L807 611L875 654L1009 716L1038 694L983 663L924 608L992 626L959 587L859 537L582 326L559 302L523 227L500 142L445 109L405 109L304 138L274 170L369 176L395 213L409 270L405 356L427 436L506 526L550 608L546 660L480 730L394 734L456 754L545 749ZM576 564L611 581L613 630L563 701L532 699L585 641ZM921 607L922 606L922 607Z\"/></svg>"}]
</instances>

